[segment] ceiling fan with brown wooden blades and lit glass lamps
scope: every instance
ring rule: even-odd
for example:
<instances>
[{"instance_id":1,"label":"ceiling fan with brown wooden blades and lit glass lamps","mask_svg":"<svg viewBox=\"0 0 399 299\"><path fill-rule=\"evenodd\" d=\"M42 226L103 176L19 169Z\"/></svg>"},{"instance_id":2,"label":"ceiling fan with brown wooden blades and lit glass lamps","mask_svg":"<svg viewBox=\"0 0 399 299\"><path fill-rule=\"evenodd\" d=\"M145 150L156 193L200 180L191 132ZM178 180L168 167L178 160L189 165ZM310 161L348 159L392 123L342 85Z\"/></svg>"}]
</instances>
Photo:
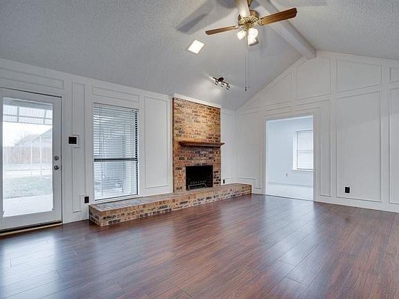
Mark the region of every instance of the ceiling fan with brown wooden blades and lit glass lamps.
<instances>
[{"instance_id":1,"label":"ceiling fan with brown wooden blades and lit glass lamps","mask_svg":"<svg viewBox=\"0 0 399 299\"><path fill-rule=\"evenodd\" d=\"M213 35L216 33L223 33L226 31L241 29L237 33L238 39L243 39L247 37L249 46L254 46L258 44L258 29L255 26L265 26L268 24L276 23L278 21L283 21L286 19L292 19L296 16L296 8L291 8L289 10L284 10L282 12L277 12L273 15L268 15L266 17L259 17L258 12L255 10L250 10L250 6L253 0L236 0L236 6L238 8L238 25L223 27L213 30L206 30L207 35Z\"/></svg>"}]
</instances>

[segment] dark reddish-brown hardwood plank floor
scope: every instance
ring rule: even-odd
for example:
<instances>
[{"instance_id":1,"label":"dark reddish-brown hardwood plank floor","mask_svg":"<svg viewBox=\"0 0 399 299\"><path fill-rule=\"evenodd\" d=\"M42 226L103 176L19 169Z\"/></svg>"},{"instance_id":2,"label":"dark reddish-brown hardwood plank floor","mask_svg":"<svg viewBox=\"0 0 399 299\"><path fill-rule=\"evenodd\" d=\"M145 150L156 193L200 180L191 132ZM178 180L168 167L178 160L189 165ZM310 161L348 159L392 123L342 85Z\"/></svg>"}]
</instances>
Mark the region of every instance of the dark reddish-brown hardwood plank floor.
<instances>
[{"instance_id":1,"label":"dark reddish-brown hardwood plank floor","mask_svg":"<svg viewBox=\"0 0 399 299\"><path fill-rule=\"evenodd\" d=\"M399 215L249 195L1 237L0 298L399 298Z\"/></svg>"}]
</instances>

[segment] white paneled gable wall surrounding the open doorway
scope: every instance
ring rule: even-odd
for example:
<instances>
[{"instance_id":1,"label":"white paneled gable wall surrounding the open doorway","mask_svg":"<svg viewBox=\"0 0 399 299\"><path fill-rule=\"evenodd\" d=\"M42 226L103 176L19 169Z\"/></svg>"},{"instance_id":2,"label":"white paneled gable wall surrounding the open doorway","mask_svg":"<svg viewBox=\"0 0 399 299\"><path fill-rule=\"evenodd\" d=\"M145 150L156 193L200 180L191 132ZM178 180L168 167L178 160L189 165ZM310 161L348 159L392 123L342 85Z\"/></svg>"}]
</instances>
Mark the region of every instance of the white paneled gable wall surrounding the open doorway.
<instances>
[{"instance_id":1,"label":"white paneled gable wall surrounding the open doorway","mask_svg":"<svg viewBox=\"0 0 399 299\"><path fill-rule=\"evenodd\" d=\"M318 52L296 62L237 111L237 181L264 194L266 120L306 114L314 200L399 212L399 61Z\"/></svg>"}]
</instances>

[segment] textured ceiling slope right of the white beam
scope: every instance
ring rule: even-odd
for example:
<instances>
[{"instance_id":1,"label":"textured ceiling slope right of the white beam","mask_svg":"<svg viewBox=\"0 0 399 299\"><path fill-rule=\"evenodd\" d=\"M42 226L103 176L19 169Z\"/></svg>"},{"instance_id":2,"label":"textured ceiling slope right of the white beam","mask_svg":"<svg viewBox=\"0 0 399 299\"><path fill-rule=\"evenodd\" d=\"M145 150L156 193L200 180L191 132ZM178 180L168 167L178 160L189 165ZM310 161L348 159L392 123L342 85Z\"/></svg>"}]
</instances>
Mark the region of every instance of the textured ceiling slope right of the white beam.
<instances>
[{"instance_id":1,"label":"textured ceiling slope right of the white beam","mask_svg":"<svg viewBox=\"0 0 399 299\"><path fill-rule=\"evenodd\" d=\"M317 48L399 60L398 0L272 0L298 8L292 24Z\"/></svg>"}]
</instances>

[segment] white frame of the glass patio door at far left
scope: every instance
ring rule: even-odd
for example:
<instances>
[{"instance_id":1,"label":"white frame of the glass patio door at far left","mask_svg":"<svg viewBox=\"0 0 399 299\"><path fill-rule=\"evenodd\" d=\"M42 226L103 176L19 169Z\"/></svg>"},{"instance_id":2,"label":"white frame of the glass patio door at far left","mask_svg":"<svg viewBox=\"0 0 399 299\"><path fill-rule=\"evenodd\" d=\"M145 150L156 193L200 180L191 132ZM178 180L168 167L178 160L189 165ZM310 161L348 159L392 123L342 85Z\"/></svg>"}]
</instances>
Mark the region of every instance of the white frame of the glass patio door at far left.
<instances>
[{"instance_id":1,"label":"white frame of the glass patio door at far left","mask_svg":"<svg viewBox=\"0 0 399 299\"><path fill-rule=\"evenodd\" d=\"M37 226L39 224L54 223L62 221L62 98L60 96L48 96L42 93L29 91L19 91L15 89L0 88L0 230L10 230L26 226ZM53 138L52 138L52 167L60 166L60 170L54 172L53 178L53 210L47 212L37 212L26 215L16 215L3 217L3 96L28 100L33 102L46 102L53 105ZM54 121L57 120L57 121ZM55 161L54 156L60 156L60 160Z\"/></svg>"}]
</instances>

